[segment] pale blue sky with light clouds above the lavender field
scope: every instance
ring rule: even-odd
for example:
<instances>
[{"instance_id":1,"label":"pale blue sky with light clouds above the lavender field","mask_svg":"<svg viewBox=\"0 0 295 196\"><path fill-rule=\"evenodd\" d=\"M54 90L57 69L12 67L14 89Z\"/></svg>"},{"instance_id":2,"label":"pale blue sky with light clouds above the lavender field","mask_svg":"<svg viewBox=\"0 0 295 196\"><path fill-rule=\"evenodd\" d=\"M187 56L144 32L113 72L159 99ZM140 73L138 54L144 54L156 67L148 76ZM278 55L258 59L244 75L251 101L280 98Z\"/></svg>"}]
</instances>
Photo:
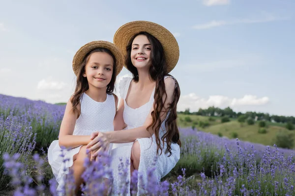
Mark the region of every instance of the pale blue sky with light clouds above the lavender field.
<instances>
[{"instance_id":1,"label":"pale blue sky with light clouds above the lavender field","mask_svg":"<svg viewBox=\"0 0 295 196\"><path fill-rule=\"evenodd\" d=\"M294 0L0 0L0 94L66 102L75 52L144 20L177 39L178 111L295 116L294 10Z\"/></svg>"}]
</instances>

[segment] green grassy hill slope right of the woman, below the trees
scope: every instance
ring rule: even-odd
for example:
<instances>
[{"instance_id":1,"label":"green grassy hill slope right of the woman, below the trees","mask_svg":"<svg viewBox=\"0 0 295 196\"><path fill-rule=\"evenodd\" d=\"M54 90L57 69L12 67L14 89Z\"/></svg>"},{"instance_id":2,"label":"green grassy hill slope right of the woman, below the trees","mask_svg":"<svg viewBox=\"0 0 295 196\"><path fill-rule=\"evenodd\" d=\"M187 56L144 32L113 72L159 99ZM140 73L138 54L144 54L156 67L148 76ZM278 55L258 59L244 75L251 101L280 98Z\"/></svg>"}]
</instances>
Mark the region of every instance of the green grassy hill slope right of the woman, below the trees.
<instances>
[{"instance_id":1,"label":"green grassy hill slope right of the woman, below the trees","mask_svg":"<svg viewBox=\"0 0 295 196\"><path fill-rule=\"evenodd\" d=\"M187 118L191 119L191 122L187 122ZM208 122L209 126L201 127L199 122ZM248 125L247 123L243 123L242 125L237 122L236 119L231 119L230 122L221 123L221 118L219 117L207 117L207 116L197 116L197 115L183 115L178 114L177 118L178 125L180 127L192 127L193 125L198 129L205 132L210 132L212 134L226 136L228 138L236 138L235 133L237 134L237 138L242 141L249 141L253 143L259 143L263 145L273 145L275 142L275 136L279 131L292 133L286 129L283 123L266 123L265 134L258 133L259 126L258 123L255 122L253 125ZM294 131L295 132L295 131Z\"/></svg>"}]
</instances>

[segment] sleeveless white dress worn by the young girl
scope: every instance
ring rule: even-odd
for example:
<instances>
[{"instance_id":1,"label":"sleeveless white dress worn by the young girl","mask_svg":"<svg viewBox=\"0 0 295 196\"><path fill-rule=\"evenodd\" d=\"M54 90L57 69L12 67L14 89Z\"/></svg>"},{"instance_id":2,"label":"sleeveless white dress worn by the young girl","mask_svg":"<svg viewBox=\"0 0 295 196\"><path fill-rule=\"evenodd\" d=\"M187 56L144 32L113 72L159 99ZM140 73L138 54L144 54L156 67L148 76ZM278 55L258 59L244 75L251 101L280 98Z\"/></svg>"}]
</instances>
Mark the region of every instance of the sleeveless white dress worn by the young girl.
<instances>
[{"instance_id":1,"label":"sleeveless white dress worn by the young girl","mask_svg":"<svg viewBox=\"0 0 295 196\"><path fill-rule=\"evenodd\" d=\"M81 114L76 121L73 135L90 135L94 131L113 131L114 118L116 115L116 103L114 95L108 95L104 102L97 102L86 93L80 99ZM73 156L77 154L82 146L63 150L64 157L61 157L59 141L55 140L48 148L48 162L52 172L56 177L58 190L64 185L65 175L69 173L69 168L73 165ZM110 145L109 152L112 149ZM68 161L64 162L64 160Z\"/></svg>"}]
</instances>

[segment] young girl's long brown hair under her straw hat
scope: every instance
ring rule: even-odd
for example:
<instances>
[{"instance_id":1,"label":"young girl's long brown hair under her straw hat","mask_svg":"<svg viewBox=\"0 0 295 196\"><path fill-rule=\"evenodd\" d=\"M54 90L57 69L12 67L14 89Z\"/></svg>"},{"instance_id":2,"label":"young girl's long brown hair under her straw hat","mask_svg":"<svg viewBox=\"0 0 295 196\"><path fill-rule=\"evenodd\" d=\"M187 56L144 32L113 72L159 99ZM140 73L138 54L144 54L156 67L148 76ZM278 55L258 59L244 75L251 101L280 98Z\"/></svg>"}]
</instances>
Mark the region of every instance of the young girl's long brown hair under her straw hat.
<instances>
[{"instance_id":1,"label":"young girl's long brown hair under her straw hat","mask_svg":"<svg viewBox=\"0 0 295 196\"><path fill-rule=\"evenodd\" d=\"M73 105L72 110L78 113L78 117L81 111L77 108L77 106L80 103L80 99L83 98L83 93L89 89L87 77L84 77L83 74L85 73L85 66L88 63L89 56L94 52L106 52L113 57L113 60L114 60L113 74L112 74L112 79L110 83L107 85L107 94L112 95L115 89L117 62L116 62L116 58L114 54L109 49L105 49L105 48L97 48L97 49L93 49L89 51L87 55L85 55L84 60L81 63L79 72L77 73L76 89L75 89L75 93L73 94L71 98L71 102Z\"/></svg>"}]
</instances>

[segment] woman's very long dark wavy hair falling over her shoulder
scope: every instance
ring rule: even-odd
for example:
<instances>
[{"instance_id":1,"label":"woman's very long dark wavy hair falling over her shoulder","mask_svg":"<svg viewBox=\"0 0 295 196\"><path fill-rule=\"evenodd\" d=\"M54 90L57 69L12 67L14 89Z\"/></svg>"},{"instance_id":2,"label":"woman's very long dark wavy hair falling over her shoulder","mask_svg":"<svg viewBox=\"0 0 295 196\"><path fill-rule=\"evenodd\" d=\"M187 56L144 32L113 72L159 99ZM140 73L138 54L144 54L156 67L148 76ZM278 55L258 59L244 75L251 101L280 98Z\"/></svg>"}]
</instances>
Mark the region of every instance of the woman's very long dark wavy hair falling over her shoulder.
<instances>
[{"instance_id":1,"label":"woman's very long dark wavy hair falling over her shoulder","mask_svg":"<svg viewBox=\"0 0 295 196\"><path fill-rule=\"evenodd\" d=\"M174 91L174 99L172 103L169 104L168 108L166 109L166 112L170 112L169 116L163 120L165 122L166 132L164 135L160 138L159 132L161 128L161 124L163 121L161 121L161 111L164 109L164 102L167 99L167 94L165 91L165 83L164 83L164 76L170 75L167 73L167 63L165 60L165 54L164 49L161 43L158 39L156 39L154 36L150 35L147 32L140 32L136 35L134 35L131 40L129 41L126 50L127 55L125 57L125 65L127 69L133 74L134 81L139 80L138 71L137 68L133 66L131 62L131 49L132 49L132 42L134 38L138 35L146 35L148 38L148 41L151 44L151 53L150 53L150 59L151 59L151 66L149 68L149 75L152 78L152 80L156 81L156 87L154 92L154 104L153 104L153 111L151 113L152 116L152 123L148 126L147 130L152 127L155 131L155 139L157 144L157 154L159 154L159 150L161 151L160 154L162 154L162 150L164 147L164 141L167 143L167 148L165 151L166 153L169 153L168 156L171 156L171 143L177 143L179 146L181 146L180 140L179 140L179 130L177 127L177 102L180 97L180 89L178 82L176 80L176 88ZM170 75L171 76L171 75ZM165 96L165 100L163 101L163 96ZM163 147L161 145L161 142L163 144Z\"/></svg>"}]
</instances>

